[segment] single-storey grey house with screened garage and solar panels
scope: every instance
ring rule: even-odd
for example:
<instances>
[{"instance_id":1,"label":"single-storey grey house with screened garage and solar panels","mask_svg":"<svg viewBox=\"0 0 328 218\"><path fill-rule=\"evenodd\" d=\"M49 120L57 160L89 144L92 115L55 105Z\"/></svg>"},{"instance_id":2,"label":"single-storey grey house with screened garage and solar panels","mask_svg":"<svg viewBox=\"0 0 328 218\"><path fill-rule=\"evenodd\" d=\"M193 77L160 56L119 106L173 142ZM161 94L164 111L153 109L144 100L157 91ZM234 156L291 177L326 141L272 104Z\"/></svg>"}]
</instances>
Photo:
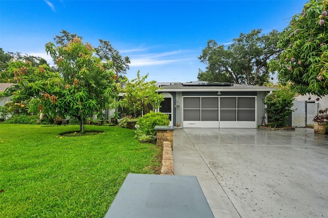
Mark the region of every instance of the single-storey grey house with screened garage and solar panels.
<instances>
[{"instance_id":1,"label":"single-storey grey house with screened garage and solar panels","mask_svg":"<svg viewBox=\"0 0 328 218\"><path fill-rule=\"evenodd\" d=\"M256 128L264 121L265 96L275 88L226 82L160 84L159 111L170 125L200 128Z\"/></svg>"}]
</instances>

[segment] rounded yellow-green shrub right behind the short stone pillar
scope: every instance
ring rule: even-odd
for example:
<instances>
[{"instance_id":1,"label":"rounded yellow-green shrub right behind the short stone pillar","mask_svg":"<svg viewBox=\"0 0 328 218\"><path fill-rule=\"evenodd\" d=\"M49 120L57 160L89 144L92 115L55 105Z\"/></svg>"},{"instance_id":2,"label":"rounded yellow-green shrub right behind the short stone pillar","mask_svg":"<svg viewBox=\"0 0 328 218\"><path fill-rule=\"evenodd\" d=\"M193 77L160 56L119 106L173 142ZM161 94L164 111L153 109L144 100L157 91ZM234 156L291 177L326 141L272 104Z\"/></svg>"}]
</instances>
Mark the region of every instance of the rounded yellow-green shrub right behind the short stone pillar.
<instances>
[{"instance_id":1,"label":"rounded yellow-green shrub right behind the short stone pillar","mask_svg":"<svg viewBox=\"0 0 328 218\"><path fill-rule=\"evenodd\" d=\"M139 130L147 136L155 136L156 130L154 127L156 125L168 126L170 124L169 115L162 114L160 112L150 112L144 117L140 117L137 120L137 125L139 125Z\"/></svg>"}]
</instances>

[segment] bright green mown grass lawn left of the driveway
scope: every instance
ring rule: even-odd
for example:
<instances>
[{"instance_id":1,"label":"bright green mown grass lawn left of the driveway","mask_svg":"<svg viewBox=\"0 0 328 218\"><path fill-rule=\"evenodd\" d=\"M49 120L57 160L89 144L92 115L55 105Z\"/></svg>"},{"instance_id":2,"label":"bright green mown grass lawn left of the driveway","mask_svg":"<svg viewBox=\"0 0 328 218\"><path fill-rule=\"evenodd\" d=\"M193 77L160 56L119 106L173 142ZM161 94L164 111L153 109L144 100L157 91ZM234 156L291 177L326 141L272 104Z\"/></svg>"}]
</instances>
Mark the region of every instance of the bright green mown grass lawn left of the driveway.
<instances>
[{"instance_id":1,"label":"bright green mown grass lawn left of the driveway","mask_svg":"<svg viewBox=\"0 0 328 218\"><path fill-rule=\"evenodd\" d=\"M63 137L78 125L0 124L0 217L104 217L128 173L159 169L160 149L134 131Z\"/></svg>"}]
</instances>

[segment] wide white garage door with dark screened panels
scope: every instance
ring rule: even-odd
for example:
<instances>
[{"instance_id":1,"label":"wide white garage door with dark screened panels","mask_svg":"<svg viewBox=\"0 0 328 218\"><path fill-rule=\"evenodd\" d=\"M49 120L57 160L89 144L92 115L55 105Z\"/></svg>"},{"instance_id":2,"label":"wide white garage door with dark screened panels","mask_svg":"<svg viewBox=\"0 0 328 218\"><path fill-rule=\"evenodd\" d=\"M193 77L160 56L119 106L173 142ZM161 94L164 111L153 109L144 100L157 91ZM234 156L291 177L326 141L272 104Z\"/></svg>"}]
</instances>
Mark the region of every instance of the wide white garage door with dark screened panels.
<instances>
[{"instance_id":1,"label":"wide white garage door with dark screened panels","mask_svg":"<svg viewBox=\"0 0 328 218\"><path fill-rule=\"evenodd\" d=\"M256 128L255 97L183 97L183 127Z\"/></svg>"}]
</instances>

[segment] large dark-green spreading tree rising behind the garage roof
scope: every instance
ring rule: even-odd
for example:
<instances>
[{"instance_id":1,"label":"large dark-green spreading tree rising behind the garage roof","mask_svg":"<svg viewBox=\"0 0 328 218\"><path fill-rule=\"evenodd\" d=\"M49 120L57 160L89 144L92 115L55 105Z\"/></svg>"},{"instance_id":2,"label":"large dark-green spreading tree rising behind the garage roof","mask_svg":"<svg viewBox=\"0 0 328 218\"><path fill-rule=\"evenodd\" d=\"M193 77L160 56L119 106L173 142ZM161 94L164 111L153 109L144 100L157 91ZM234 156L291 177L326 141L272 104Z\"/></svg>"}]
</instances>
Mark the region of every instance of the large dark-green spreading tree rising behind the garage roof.
<instances>
[{"instance_id":1,"label":"large dark-green spreading tree rising behind the garage roof","mask_svg":"<svg viewBox=\"0 0 328 218\"><path fill-rule=\"evenodd\" d=\"M269 80L268 62L281 52L276 47L279 32L261 34L262 30L241 33L226 47L209 40L198 57L207 64L206 71L199 70L197 78L204 81L263 84Z\"/></svg>"}]
</instances>

